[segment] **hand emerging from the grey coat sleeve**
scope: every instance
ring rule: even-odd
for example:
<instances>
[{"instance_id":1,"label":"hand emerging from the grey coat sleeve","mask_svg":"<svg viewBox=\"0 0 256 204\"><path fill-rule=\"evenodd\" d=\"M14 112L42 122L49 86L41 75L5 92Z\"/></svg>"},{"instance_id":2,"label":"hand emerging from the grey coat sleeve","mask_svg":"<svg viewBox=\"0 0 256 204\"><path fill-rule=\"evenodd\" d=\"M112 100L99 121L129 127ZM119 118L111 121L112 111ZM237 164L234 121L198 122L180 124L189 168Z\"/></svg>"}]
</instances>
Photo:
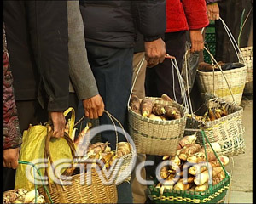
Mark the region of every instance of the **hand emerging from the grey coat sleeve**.
<instances>
[{"instance_id":1,"label":"hand emerging from the grey coat sleeve","mask_svg":"<svg viewBox=\"0 0 256 204\"><path fill-rule=\"evenodd\" d=\"M90 119L96 119L99 116L102 116L105 108L102 97L99 94L91 97L90 99L84 99L83 106L85 116Z\"/></svg>"}]
</instances>

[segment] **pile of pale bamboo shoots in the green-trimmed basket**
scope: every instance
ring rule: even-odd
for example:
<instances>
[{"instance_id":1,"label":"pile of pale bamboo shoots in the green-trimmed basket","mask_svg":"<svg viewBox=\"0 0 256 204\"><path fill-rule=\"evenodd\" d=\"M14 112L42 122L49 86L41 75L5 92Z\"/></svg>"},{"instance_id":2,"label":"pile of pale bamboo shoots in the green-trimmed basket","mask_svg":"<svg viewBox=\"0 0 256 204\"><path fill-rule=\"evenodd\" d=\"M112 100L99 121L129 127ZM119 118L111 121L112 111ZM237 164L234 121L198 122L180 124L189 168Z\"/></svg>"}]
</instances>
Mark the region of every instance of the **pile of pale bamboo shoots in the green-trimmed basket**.
<instances>
[{"instance_id":1,"label":"pile of pale bamboo shoots in the green-trimmed basket","mask_svg":"<svg viewBox=\"0 0 256 204\"><path fill-rule=\"evenodd\" d=\"M185 136L179 143L179 150L176 156L163 156L163 160L170 160L174 165L168 165L160 169L160 178L166 181L165 184L156 184L163 193L167 190L193 190L205 191L209 188L208 167L212 167L212 185L218 184L225 178L224 169L221 167L214 152L220 150L218 143L206 144L207 158L205 149L200 144L195 144L196 136ZM229 163L227 156L218 156L225 166ZM207 162L208 161L208 162ZM187 173L187 175L184 175Z\"/></svg>"}]
</instances>

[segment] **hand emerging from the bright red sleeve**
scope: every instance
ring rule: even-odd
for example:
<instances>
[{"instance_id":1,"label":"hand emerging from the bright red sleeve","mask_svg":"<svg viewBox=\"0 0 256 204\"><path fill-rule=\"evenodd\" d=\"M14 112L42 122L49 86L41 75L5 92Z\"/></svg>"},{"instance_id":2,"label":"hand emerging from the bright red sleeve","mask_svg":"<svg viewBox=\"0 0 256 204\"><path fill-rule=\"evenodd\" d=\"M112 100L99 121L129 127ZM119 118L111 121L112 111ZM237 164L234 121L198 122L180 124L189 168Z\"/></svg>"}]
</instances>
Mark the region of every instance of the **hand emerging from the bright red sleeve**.
<instances>
[{"instance_id":1,"label":"hand emerging from the bright red sleeve","mask_svg":"<svg viewBox=\"0 0 256 204\"><path fill-rule=\"evenodd\" d=\"M201 29L189 30L191 41L191 53L199 52L204 48L204 37L201 34Z\"/></svg>"}]
</instances>

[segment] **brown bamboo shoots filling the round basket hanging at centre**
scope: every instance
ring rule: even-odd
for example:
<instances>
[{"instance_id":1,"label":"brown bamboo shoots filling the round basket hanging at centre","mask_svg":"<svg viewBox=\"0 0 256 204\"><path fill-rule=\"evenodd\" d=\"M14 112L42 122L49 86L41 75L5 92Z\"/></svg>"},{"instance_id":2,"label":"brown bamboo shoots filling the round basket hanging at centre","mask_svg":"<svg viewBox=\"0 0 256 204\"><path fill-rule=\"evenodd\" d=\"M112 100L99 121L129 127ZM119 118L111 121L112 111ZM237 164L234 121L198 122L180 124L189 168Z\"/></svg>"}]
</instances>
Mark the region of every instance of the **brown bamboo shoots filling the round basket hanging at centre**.
<instances>
[{"instance_id":1,"label":"brown bamboo shoots filling the round basket hanging at centre","mask_svg":"<svg viewBox=\"0 0 256 204\"><path fill-rule=\"evenodd\" d=\"M177 107L160 104L158 103L160 100L173 101L166 94L162 94L161 98L156 100L150 98L139 99L136 94L131 94L130 107L137 114L152 120L166 121L181 118L181 113Z\"/></svg>"}]
</instances>

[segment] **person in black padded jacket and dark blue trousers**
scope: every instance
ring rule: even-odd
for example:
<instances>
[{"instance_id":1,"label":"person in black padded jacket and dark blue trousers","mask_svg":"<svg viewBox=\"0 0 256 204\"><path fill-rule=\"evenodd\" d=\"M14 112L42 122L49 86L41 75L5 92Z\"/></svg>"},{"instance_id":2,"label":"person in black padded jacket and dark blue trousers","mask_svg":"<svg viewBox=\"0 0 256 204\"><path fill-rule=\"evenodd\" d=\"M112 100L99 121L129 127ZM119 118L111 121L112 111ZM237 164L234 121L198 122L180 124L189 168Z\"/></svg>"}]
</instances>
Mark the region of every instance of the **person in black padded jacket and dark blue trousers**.
<instances>
[{"instance_id":1,"label":"person in black padded jacket and dark blue trousers","mask_svg":"<svg viewBox=\"0 0 256 204\"><path fill-rule=\"evenodd\" d=\"M145 59L157 65L166 49L160 35L166 30L165 0L80 1L88 60L105 109L127 131L127 103L131 93L132 58L136 29L143 34ZM100 124L112 124L103 114ZM102 141L114 148L114 133L102 133ZM119 141L125 141L119 135ZM132 203L131 184L118 186L118 202Z\"/></svg>"}]
</instances>

